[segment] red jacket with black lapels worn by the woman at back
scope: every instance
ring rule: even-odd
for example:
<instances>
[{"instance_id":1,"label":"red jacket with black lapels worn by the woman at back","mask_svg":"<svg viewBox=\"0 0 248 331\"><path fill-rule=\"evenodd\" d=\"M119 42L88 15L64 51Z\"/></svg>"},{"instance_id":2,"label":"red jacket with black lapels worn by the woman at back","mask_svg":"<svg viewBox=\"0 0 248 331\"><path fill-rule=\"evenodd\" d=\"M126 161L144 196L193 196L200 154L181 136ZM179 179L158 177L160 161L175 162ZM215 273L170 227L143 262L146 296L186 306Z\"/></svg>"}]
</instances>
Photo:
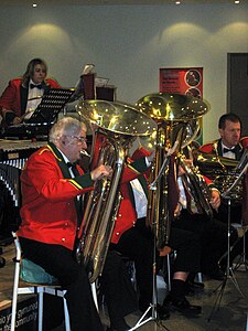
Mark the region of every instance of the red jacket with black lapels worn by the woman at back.
<instances>
[{"instance_id":1,"label":"red jacket with black lapels worn by the woman at back","mask_svg":"<svg viewBox=\"0 0 248 331\"><path fill-rule=\"evenodd\" d=\"M56 81L51 78L45 79L45 90L61 87ZM10 81L0 97L0 114L3 115L2 108L12 110L18 117L24 114L28 93L29 88L22 86L22 77Z\"/></svg>"}]
</instances>

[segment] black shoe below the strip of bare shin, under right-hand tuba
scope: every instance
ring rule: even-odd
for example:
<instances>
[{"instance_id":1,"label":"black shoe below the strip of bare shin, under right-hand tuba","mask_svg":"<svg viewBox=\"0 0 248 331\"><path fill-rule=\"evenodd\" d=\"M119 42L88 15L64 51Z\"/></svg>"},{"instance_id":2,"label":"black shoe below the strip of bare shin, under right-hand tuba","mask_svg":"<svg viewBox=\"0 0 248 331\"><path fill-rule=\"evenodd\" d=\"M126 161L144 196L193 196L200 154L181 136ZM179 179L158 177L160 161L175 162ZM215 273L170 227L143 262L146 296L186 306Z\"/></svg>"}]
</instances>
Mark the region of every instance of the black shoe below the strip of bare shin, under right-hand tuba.
<instances>
[{"instance_id":1,"label":"black shoe below the strip of bare shin, under right-hand tuba","mask_svg":"<svg viewBox=\"0 0 248 331\"><path fill-rule=\"evenodd\" d=\"M182 300L177 300L171 298L171 296L169 295L164 299L163 306L168 307L171 311L179 311L180 313L188 317L198 316L202 313L202 307L191 305L185 297Z\"/></svg>"}]
</instances>

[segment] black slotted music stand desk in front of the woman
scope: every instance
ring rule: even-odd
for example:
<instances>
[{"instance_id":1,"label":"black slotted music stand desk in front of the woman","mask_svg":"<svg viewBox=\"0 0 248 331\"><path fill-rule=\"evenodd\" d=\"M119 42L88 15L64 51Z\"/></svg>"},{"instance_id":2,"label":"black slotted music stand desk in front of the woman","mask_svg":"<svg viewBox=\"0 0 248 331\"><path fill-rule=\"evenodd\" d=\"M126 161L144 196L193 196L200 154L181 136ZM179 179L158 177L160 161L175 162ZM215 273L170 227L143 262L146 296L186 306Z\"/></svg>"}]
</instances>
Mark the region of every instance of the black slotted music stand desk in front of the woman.
<instances>
[{"instance_id":1,"label":"black slotted music stand desk in front of the woman","mask_svg":"<svg viewBox=\"0 0 248 331\"><path fill-rule=\"evenodd\" d=\"M42 102L25 124L53 124L64 105L71 99L74 89L51 88L42 96Z\"/></svg>"}]
</instances>

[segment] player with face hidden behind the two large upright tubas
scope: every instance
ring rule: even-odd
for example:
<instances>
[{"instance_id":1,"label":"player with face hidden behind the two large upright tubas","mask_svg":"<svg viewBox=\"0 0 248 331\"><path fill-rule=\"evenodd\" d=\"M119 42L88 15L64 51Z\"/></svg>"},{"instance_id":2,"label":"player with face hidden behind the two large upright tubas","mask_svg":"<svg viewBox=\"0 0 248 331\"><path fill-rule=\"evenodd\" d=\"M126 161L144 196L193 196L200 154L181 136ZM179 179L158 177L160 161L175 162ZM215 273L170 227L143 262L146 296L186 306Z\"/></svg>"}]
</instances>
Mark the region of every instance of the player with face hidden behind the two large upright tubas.
<instances>
[{"instance_id":1,"label":"player with face hidden behind the two large upright tubas","mask_svg":"<svg viewBox=\"0 0 248 331\"><path fill-rule=\"evenodd\" d=\"M143 156L147 156L148 161L150 161L150 156L142 148L133 154L134 159L138 160ZM140 174L136 180L122 182L120 192L122 200L110 249L118 250L134 261L139 288L139 308L144 312L152 303L153 289L153 234L151 228L145 226L148 182L144 175ZM172 203L170 205L172 206ZM168 319L170 308L184 316L200 314L202 308L191 305L185 298L185 281L188 273L200 271L198 236L192 232L172 228L169 245L176 250L174 273L169 296L162 307L158 305L158 317ZM163 255L165 250L170 252L170 247L164 247L160 254ZM157 263L159 265L159 259Z\"/></svg>"}]
</instances>

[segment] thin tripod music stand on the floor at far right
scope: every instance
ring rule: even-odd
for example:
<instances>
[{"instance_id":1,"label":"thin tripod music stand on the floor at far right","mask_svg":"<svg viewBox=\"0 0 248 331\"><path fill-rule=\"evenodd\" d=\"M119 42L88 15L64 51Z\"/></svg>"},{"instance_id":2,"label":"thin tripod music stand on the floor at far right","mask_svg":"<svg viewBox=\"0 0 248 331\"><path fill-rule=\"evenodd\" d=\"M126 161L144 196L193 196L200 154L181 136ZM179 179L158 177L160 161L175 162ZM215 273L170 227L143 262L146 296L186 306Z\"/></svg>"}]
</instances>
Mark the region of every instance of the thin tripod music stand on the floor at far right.
<instances>
[{"instance_id":1,"label":"thin tripod music stand on the floor at far right","mask_svg":"<svg viewBox=\"0 0 248 331\"><path fill-rule=\"evenodd\" d=\"M215 305L212 309L212 312L211 312L211 316L208 318L208 322L212 320L212 317L214 314L214 311L216 310L216 307L217 309L219 309L220 307L220 303L222 303L222 298L223 298L223 295L224 295L224 290L225 290L225 287L227 285L227 281L228 279L230 279L234 284L234 286L236 287L236 289L239 291L239 293L241 295L242 298L245 298L239 285L238 285L238 281L235 277L235 274L234 274L234 270L233 270L233 267L230 266L230 199L228 199L228 231L227 231L227 267L226 267L226 274L225 274L225 278L223 280L223 282L220 284L220 286L218 286L214 292L216 292L219 288L219 293L215 300Z\"/></svg>"}]
</instances>

